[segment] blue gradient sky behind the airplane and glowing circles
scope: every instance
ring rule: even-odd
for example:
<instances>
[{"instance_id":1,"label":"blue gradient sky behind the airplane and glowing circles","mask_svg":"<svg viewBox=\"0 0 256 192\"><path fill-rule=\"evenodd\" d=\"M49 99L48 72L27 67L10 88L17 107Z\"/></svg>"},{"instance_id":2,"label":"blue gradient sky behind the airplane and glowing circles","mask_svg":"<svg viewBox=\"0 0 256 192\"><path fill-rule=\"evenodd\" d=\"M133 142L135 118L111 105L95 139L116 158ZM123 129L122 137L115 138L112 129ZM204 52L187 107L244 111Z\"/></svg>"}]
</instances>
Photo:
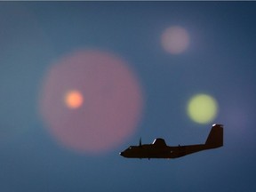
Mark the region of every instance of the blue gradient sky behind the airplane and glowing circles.
<instances>
[{"instance_id":1,"label":"blue gradient sky behind the airplane and glowing circles","mask_svg":"<svg viewBox=\"0 0 256 192\"><path fill-rule=\"evenodd\" d=\"M255 2L1 2L0 190L255 191L255 10ZM161 44L172 26L189 35L180 54ZM65 147L40 113L47 73L81 50L124 60L143 103L132 133L95 153ZM219 104L208 124L186 111L201 92ZM118 154L140 137L203 143L213 123L224 124L223 148L171 160Z\"/></svg>"}]
</instances>

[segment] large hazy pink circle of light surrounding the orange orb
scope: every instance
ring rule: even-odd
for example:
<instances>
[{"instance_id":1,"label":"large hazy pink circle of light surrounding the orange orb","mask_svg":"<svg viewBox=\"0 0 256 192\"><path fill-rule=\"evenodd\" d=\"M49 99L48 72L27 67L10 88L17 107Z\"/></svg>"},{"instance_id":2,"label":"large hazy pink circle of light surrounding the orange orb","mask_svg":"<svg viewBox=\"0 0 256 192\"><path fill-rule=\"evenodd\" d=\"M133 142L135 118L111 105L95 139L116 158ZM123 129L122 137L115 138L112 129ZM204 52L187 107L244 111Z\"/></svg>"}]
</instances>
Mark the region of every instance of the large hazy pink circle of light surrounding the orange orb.
<instances>
[{"instance_id":1,"label":"large hazy pink circle of light surrounding the orange orb","mask_svg":"<svg viewBox=\"0 0 256 192\"><path fill-rule=\"evenodd\" d=\"M52 137L60 146L89 154L127 140L143 107L140 84L129 65L115 54L93 50L54 62L40 95L40 115Z\"/></svg>"}]
</instances>

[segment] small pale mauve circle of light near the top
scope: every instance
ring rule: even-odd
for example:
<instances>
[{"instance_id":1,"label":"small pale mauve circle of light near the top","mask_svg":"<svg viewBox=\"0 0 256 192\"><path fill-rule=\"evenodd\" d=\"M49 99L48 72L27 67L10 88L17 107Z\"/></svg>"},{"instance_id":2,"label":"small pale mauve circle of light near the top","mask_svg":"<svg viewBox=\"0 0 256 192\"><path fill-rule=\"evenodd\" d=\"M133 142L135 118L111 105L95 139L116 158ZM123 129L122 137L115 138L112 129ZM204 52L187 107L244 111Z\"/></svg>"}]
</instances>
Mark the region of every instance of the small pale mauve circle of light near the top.
<instances>
[{"instance_id":1,"label":"small pale mauve circle of light near the top","mask_svg":"<svg viewBox=\"0 0 256 192\"><path fill-rule=\"evenodd\" d=\"M185 52L189 44L188 32L179 26L166 28L161 36L161 43L166 52L172 54Z\"/></svg>"}]
</instances>

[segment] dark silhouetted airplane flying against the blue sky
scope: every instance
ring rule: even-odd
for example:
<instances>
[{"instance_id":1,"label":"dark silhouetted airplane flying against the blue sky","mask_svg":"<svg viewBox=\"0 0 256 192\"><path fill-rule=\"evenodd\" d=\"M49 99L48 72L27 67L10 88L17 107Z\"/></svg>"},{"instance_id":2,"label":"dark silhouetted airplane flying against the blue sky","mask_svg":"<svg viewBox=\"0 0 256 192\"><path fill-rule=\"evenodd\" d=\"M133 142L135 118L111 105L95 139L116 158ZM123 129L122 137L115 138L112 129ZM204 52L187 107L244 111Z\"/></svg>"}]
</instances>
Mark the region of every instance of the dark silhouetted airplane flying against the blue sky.
<instances>
[{"instance_id":1,"label":"dark silhouetted airplane flying against the blue sky","mask_svg":"<svg viewBox=\"0 0 256 192\"><path fill-rule=\"evenodd\" d=\"M223 146L223 125L212 124L212 130L204 144L188 146L167 146L161 138L154 140L152 144L141 144L139 146L130 146L120 153L120 156L128 158L178 158L187 156L198 151L220 148Z\"/></svg>"}]
</instances>

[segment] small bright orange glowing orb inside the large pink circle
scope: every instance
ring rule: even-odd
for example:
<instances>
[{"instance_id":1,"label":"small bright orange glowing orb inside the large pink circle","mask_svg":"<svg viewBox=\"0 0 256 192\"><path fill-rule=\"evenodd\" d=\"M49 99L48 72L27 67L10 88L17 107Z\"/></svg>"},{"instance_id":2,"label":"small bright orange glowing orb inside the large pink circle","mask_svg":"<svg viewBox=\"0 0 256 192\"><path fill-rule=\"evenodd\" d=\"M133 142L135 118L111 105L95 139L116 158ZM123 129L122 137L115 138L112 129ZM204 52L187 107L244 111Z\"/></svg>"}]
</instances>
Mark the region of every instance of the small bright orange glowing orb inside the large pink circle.
<instances>
[{"instance_id":1,"label":"small bright orange glowing orb inside the large pink circle","mask_svg":"<svg viewBox=\"0 0 256 192\"><path fill-rule=\"evenodd\" d=\"M80 108L84 102L83 95L78 91L71 91L66 94L65 103L68 108Z\"/></svg>"}]
</instances>

